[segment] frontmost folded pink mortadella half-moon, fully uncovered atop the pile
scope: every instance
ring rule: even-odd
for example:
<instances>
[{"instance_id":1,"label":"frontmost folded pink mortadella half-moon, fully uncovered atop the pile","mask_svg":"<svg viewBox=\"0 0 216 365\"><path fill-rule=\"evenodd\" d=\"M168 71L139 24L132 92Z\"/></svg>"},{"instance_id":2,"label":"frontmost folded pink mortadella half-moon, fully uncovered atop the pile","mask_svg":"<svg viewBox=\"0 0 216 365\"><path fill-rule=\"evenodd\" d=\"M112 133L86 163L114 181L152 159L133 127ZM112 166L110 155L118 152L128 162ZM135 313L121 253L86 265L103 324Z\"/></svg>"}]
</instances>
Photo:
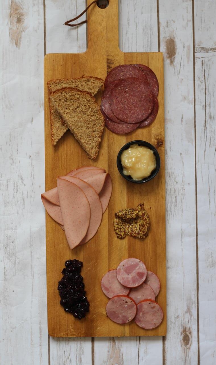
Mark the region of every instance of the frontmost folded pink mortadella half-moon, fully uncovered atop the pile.
<instances>
[{"instance_id":1,"label":"frontmost folded pink mortadella half-moon, fully uncovered atop the pile","mask_svg":"<svg viewBox=\"0 0 216 365\"><path fill-rule=\"evenodd\" d=\"M57 178L61 214L68 245L72 250L85 237L91 218L88 199L77 185Z\"/></svg>"}]
</instances>

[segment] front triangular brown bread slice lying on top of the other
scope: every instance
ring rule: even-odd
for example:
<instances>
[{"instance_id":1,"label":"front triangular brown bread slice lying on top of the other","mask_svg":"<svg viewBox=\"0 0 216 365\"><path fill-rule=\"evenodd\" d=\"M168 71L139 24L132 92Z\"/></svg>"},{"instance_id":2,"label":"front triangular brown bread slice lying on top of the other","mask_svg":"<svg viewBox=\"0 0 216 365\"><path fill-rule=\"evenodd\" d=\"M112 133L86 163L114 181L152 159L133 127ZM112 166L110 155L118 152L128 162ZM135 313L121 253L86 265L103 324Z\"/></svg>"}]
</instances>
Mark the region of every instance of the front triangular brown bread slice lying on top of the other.
<instances>
[{"instance_id":1,"label":"front triangular brown bread slice lying on top of the other","mask_svg":"<svg viewBox=\"0 0 216 365\"><path fill-rule=\"evenodd\" d=\"M104 117L95 98L86 91L62 88L52 92L50 100L88 157L96 158L104 129Z\"/></svg>"}]
</instances>

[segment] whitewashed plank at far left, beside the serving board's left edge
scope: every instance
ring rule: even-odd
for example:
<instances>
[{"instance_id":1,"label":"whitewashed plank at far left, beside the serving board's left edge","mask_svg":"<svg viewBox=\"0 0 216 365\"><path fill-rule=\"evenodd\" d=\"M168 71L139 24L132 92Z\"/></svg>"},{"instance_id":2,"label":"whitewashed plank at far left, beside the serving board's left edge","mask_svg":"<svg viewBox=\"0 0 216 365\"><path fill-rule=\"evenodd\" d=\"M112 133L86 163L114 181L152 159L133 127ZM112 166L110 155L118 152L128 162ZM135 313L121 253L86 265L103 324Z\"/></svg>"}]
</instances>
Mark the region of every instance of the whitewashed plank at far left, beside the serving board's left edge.
<instances>
[{"instance_id":1,"label":"whitewashed plank at far left, beside the serving board's left edge","mask_svg":"<svg viewBox=\"0 0 216 365\"><path fill-rule=\"evenodd\" d=\"M0 363L44 365L43 1L1 1L0 14Z\"/></svg>"}]
</instances>

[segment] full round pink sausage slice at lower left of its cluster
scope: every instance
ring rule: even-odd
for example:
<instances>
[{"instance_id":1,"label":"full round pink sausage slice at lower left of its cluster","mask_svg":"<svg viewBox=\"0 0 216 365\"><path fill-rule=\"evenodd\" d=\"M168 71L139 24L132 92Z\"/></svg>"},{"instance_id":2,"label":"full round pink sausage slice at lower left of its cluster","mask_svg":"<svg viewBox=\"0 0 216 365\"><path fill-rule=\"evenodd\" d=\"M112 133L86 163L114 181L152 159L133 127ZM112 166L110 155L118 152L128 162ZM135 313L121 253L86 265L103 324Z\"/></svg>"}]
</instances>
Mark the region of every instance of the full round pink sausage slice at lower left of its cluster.
<instances>
[{"instance_id":1,"label":"full round pink sausage slice at lower left of its cluster","mask_svg":"<svg viewBox=\"0 0 216 365\"><path fill-rule=\"evenodd\" d=\"M136 316L137 306L129 296L116 295L108 301L106 312L113 322L123 324L131 322Z\"/></svg>"}]
</instances>

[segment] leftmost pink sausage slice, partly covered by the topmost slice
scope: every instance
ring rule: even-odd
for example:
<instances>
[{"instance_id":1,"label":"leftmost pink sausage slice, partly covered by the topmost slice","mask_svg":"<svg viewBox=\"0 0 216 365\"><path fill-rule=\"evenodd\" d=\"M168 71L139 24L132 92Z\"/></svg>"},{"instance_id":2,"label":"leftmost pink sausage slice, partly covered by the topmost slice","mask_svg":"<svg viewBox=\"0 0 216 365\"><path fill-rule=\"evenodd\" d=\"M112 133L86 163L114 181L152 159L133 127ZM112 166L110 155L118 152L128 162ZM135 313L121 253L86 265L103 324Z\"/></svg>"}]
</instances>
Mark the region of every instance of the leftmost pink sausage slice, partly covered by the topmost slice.
<instances>
[{"instance_id":1,"label":"leftmost pink sausage slice, partly covered by the topmost slice","mask_svg":"<svg viewBox=\"0 0 216 365\"><path fill-rule=\"evenodd\" d=\"M119 280L116 277L116 269L109 270L101 279L101 289L104 294L108 296L108 298L112 298L118 294L128 295L130 289L124 287L119 283Z\"/></svg>"}]
</instances>

